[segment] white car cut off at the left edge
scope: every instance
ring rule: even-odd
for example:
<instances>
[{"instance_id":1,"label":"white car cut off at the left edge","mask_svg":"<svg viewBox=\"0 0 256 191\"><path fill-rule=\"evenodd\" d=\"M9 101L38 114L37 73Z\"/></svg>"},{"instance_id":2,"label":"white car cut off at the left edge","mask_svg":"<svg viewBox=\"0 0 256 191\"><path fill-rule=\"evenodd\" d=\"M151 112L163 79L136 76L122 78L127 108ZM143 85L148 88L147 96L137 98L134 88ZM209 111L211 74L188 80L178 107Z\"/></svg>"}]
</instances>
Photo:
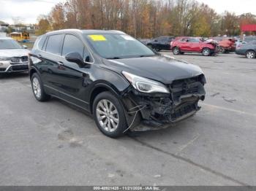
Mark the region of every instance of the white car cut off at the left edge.
<instances>
[{"instance_id":1,"label":"white car cut off at the left edge","mask_svg":"<svg viewBox=\"0 0 256 191\"><path fill-rule=\"evenodd\" d=\"M29 50L12 38L0 37L0 74L29 71Z\"/></svg>"}]
</instances>

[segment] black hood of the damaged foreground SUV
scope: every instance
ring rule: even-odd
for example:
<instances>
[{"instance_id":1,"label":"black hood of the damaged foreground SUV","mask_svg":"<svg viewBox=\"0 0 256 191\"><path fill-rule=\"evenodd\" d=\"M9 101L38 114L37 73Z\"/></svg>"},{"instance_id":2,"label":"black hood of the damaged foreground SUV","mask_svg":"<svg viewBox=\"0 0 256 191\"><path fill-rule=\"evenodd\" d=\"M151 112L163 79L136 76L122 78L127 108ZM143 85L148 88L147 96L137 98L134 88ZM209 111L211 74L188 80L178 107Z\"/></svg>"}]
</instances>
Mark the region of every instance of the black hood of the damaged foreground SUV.
<instances>
[{"instance_id":1,"label":"black hood of the damaged foreground SUV","mask_svg":"<svg viewBox=\"0 0 256 191\"><path fill-rule=\"evenodd\" d=\"M176 79L185 79L203 74L203 71L198 66L167 56L118 60L104 59L103 62L108 66L108 69L118 71L118 73L127 71L140 77L157 80L164 84L170 84Z\"/></svg>"}]
</instances>

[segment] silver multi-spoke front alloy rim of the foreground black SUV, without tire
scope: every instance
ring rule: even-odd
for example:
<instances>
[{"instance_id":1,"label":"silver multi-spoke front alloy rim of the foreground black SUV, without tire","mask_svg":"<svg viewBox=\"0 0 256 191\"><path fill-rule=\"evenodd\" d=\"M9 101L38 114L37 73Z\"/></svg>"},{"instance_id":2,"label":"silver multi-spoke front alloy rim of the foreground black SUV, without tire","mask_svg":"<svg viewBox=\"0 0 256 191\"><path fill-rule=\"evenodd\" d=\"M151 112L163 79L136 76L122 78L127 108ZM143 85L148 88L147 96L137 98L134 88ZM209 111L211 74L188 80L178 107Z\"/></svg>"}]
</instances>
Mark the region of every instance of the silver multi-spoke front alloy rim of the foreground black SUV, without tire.
<instances>
[{"instance_id":1,"label":"silver multi-spoke front alloy rim of the foreground black SUV, without tire","mask_svg":"<svg viewBox=\"0 0 256 191\"><path fill-rule=\"evenodd\" d=\"M101 128L113 132L118 128L119 117L116 106L107 99L102 99L96 108L97 120Z\"/></svg>"}]
</instances>

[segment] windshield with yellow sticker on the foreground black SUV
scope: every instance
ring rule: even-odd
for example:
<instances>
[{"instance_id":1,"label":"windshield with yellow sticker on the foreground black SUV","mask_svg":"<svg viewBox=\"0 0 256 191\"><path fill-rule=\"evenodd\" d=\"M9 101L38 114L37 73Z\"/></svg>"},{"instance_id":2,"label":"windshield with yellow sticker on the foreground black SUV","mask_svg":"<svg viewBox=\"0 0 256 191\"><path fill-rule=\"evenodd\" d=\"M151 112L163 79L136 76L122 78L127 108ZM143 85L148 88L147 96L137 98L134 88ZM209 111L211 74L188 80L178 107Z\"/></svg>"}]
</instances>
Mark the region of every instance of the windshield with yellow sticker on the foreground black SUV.
<instances>
[{"instance_id":1,"label":"windshield with yellow sticker on the foreground black SUV","mask_svg":"<svg viewBox=\"0 0 256 191\"><path fill-rule=\"evenodd\" d=\"M102 58L136 58L156 55L151 49L126 34L86 34L86 41Z\"/></svg>"}]
</instances>

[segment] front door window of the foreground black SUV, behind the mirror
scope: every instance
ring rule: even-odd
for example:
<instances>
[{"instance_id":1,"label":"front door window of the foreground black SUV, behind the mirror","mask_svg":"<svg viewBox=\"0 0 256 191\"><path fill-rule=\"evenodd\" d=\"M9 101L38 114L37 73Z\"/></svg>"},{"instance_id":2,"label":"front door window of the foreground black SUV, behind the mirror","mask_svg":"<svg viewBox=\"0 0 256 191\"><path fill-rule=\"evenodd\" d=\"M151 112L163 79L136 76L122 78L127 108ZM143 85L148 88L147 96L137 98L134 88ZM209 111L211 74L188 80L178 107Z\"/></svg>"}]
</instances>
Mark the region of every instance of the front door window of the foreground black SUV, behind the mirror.
<instances>
[{"instance_id":1,"label":"front door window of the foreground black SUV, behind the mirror","mask_svg":"<svg viewBox=\"0 0 256 191\"><path fill-rule=\"evenodd\" d=\"M70 52L78 52L83 57L84 45L76 36L67 34L64 39L62 55L67 55Z\"/></svg>"}]
</instances>

